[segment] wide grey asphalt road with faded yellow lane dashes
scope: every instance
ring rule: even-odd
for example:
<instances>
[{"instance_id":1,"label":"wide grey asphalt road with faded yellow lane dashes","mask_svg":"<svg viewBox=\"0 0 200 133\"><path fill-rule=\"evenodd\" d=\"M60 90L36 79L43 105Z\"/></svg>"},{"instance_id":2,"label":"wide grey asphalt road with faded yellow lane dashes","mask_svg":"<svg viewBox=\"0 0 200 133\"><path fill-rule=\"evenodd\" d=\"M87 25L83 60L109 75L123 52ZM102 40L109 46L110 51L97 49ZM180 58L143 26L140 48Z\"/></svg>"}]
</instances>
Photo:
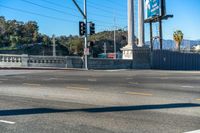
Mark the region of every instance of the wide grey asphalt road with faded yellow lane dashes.
<instances>
[{"instance_id":1,"label":"wide grey asphalt road with faded yellow lane dashes","mask_svg":"<svg viewBox=\"0 0 200 133\"><path fill-rule=\"evenodd\" d=\"M0 133L200 130L200 72L0 70Z\"/></svg>"}]
</instances>

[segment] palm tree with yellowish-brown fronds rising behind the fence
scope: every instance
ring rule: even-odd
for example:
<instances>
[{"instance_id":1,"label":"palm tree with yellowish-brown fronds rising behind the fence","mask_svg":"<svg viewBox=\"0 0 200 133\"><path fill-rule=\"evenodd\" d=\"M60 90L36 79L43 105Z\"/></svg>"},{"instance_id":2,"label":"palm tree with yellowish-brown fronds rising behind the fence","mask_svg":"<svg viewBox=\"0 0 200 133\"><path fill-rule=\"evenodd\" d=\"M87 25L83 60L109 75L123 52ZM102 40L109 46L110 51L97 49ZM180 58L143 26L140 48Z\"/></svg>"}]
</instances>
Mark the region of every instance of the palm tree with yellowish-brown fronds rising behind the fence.
<instances>
[{"instance_id":1,"label":"palm tree with yellowish-brown fronds rising behind the fence","mask_svg":"<svg viewBox=\"0 0 200 133\"><path fill-rule=\"evenodd\" d=\"M180 30L175 31L173 34L173 38L176 43L176 49L180 51L180 45L183 40L183 32Z\"/></svg>"}]
</instances>

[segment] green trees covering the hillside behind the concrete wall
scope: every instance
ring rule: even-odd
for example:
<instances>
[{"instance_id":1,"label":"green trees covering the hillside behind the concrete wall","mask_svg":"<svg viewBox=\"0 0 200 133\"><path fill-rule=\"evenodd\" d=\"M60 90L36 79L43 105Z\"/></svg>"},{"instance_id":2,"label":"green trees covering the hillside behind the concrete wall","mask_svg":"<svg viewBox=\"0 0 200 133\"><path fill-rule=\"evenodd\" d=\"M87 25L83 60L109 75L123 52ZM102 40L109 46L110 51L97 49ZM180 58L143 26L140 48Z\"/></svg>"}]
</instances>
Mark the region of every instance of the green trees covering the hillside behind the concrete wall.
<instances>
[{"instance_id":1,"label":"green trees covering the hillside behind the concrete wall","mask_svg":"<svg viewBox=\"0 0 200 133\"><path fill-rule=\"evenodd\" d=\"M113 52L114 49L114 32L103 31L89 37L89 41L94 42L94 46L90 47L93 55L97 56L103 53L103 46L106 43L107 52ZM116 31L117 51L127 44L127 32L123 30ZM65 47L69 55L83 55L84 39L79 36L59 36L56 37L56 45ZM6 20L0 16L0 49L27 49L38 47L52 46L52 38L39 33L39 26L35 21L20 22L17 20ZM31 48L32 49L32 48ZM34 49L34 48L33 48Z\"/></svg>"}]
</instances>

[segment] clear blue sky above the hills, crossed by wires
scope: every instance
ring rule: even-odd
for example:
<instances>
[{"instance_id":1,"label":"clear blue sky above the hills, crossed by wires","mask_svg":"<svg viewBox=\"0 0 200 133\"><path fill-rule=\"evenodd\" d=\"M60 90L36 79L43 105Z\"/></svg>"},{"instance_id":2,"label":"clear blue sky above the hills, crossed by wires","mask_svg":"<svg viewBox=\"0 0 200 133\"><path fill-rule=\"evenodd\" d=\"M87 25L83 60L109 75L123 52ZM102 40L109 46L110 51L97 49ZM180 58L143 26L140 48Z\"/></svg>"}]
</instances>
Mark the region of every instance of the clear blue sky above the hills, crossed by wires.
<instances>
[{"instance_id":1,"label":"clear blue sky above the hills, crossed by wires","mask_svg":"<svg viewBox=\"0 0 200 133\"><path fill-rule=\"evenodd\" d=\"M127 0L87 0L88 18L96 23L96 30L111 30L127 26ZM83 0L77 0L83 7ZM167 13L174 18L163 22L164 39L172 39L175 30L182 30L185 39L200 39L200 0L166 0ZM137 1L135 2L137 5ZM137 14L137 8L135 8ZM0 15L6 19L38 22L40 32L47 35L77 35L82 16L72 0L0 0ZM137 16L136 20L137 22ZM149 27L146 38L149 38ZM157 24L154 35L158 34ZM137 35L137 25L136 25Z\"/></svg>"}]
</instances>

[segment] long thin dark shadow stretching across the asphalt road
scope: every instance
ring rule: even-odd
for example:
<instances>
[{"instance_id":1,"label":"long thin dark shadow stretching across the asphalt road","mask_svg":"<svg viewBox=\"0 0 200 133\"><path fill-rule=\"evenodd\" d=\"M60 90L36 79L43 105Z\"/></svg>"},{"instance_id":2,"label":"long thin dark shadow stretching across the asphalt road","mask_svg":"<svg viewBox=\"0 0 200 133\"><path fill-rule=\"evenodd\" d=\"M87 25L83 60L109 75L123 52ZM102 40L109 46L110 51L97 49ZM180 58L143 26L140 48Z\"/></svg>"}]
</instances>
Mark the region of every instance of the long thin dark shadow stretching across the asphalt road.
<instances>
[{"instance_id":1,"label":"long thin dark shadow stretching across the asphalt road","mask_svg":"<svg viewBox=\"0 0 200 133\"><path fill-rule=\"evenodd\" d=\"M200 107L200 104L173 103L173 104L160 104L160 105L115 106L115 107L99 107L99 108L83 108L83 109L50 109L50 108L12 109L12 110L0 110L0 116L67 113L67 112L106 113L106 112L138 111L138 110L192 108L192 107Z\"/></svg>"}]
</instances>

